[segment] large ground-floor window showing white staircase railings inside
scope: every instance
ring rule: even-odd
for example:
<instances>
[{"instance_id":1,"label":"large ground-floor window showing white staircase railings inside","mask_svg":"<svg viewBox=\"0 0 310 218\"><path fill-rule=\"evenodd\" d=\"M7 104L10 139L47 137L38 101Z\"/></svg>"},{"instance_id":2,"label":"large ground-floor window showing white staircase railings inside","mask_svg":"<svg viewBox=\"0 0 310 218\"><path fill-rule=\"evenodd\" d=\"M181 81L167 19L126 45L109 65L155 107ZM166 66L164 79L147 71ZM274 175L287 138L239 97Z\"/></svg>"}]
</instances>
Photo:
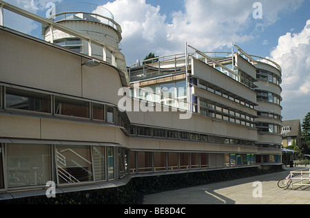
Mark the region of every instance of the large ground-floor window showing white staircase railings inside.
<instances>
[{"instance_id":1,"label":"large ground-floor window showing white staircase railings inside","mask_svg":"<svg viewBox=\"0 0 310 218\"><path fill-rule=\"evenodd\" d=\"M57 145L56 160L59 183L93 180L90 146Z\"/></svg>"}]
</instances>

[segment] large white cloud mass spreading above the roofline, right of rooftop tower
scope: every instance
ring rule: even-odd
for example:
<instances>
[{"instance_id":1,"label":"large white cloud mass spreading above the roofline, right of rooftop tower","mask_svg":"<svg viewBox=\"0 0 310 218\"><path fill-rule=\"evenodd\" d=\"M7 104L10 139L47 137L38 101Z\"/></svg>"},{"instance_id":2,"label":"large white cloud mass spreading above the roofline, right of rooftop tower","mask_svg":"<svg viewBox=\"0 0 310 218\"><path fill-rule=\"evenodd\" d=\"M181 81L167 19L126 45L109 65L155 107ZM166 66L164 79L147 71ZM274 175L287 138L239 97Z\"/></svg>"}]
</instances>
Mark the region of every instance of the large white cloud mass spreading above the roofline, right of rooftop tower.
<instances>
[{"instance_id":1,"label":"large white cloud mass spreading above the roofline, right of rooftop tower","mask_svg":"<svg viewBox=\"0 0 310 218\"><path fill-rule=\"evenodd\" d=\"M263 28L278 21L280 13L296 10L302 1L262 0L262 19L254 19L254 0L185 0L185 10L172 12L170 23L160 6L145 0L116 0L103 7L123 29L123 52L131 64L149 52L184 52L185 42L205 51L230 47L233 41L241 44L258 37Z\"/></svg>"}]
</instances>

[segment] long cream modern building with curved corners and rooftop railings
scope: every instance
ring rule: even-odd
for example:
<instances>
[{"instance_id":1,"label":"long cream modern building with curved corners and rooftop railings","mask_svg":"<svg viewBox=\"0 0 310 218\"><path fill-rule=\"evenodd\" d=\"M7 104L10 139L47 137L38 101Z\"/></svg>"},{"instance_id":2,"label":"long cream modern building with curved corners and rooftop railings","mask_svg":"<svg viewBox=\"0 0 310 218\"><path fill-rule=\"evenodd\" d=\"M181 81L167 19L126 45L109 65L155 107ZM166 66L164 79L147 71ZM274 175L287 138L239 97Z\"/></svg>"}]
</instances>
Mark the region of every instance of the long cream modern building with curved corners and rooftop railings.
<instances>
[{"instance_id":1,"label":"long cream modern building with curved corners and rooftop railings","mask_svg":"<svg viewBox=\"0 0 310 218\"><path fill-rule=\"evenodd\" d=\"M43 19L0 1L1 199L281 163L276 63L186 45L127 67L112 14L74 4ZM3 9L42 23L45 40L6 28Z\"/></svg>"}]
</instances>

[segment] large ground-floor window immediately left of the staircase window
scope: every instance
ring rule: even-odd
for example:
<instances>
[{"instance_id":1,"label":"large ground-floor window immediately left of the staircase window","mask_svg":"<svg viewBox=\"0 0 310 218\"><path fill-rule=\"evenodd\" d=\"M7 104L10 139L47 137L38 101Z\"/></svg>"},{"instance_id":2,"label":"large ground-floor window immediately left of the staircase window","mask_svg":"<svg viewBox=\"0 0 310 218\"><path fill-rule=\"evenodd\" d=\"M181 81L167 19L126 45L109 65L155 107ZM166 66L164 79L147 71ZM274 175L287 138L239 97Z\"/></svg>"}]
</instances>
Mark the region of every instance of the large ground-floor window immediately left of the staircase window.
<instances>
[{"instance_id":1,"label":"large ground-floor window immediately left of the staircase window","mask_svg":"<svg viewBox=\"0 0 310 218\"><path fill-rule=\"evenodd\" d=\"M8 187L45 185L52 180L48 144L7 144Z\"/></svg>"}]
</instances>

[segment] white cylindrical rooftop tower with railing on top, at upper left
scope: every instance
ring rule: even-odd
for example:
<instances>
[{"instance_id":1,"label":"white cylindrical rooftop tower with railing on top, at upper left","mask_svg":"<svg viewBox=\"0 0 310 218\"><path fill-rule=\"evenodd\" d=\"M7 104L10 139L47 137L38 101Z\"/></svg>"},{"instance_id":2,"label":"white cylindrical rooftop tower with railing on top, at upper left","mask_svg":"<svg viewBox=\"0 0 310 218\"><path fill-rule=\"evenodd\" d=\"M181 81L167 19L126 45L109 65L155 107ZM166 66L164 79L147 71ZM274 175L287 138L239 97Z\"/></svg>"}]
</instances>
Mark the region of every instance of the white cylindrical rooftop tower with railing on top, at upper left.
<instances>
[{"instance_id":1,"label":"white cylindrical rooftop tower with railing on top, at upper left","mask_svg":"<svg viewBox=\"0 0 310 218\"><path fill-rule=\"evenodd\" d=\"M61 3L52 9L49 19L121 50L121 27L114 21L113 14L102 6L83 2ZM87 41L60 30L45 27L43 37L45 41L112 63L111 52L98 45L90 46Z\"/></svg>"}]
</instances>

